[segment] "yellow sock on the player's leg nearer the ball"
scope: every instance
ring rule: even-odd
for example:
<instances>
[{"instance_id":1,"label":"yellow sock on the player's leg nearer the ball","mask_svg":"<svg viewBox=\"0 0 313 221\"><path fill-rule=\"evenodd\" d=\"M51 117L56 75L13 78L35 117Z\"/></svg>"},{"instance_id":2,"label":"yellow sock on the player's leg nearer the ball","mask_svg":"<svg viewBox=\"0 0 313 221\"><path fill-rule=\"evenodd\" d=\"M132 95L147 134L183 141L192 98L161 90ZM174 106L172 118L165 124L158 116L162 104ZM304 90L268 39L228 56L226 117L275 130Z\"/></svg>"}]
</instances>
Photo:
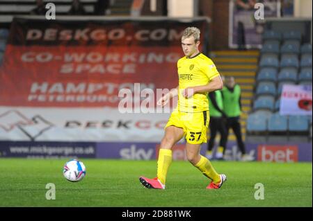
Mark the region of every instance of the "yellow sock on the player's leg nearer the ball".
<instances>
[{"instance_id":1,"label":"yellow sock on the player's leg nearer the ball","mask_svg":"<svg viewBox=\"0 0 313 221\"><path fill-rule=\"evenodd\" d=\"M168 168L170 167L171 163L172 163L172 150L160 149L157 177L162 182L162 184L166 183L166 175L168 173Z\"/></svg>"}]
</instances>

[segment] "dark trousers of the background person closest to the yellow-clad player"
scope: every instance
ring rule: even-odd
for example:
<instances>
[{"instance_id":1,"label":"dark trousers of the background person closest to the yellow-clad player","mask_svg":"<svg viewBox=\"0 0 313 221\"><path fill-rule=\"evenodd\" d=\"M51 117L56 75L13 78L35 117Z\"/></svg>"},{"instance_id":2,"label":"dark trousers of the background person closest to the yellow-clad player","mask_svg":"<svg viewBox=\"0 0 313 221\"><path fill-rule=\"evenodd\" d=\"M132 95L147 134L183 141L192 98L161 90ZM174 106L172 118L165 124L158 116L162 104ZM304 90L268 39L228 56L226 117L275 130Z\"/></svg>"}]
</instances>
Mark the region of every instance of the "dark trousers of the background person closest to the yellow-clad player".
<instances>
[{"instance_id":1,"label":"dark trousers of the background person closest to the yellow-clad player","mask_svg":"<svg viewBox=\"0 0 313 221\"><path fill-rule=\"evenodd\" d=\"M225 145L227 141L227 130L225 119L222 117L210 117L210 139L207 145L207 150L212 150L214 148L214 141L216 133L220 133L220 147L223 147L223 152L225 152Z\"/></svg>"}]
</instances>

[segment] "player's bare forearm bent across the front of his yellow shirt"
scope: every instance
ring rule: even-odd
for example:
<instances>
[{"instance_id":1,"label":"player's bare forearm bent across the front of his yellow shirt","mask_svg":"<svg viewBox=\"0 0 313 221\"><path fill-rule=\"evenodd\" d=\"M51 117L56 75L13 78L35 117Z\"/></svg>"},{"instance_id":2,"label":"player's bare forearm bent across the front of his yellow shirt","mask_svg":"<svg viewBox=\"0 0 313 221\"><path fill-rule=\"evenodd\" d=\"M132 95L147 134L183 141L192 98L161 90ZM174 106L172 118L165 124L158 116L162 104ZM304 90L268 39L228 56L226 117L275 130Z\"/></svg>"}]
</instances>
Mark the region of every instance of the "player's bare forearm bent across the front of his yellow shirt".
<instances>
[{"instance_id":1,"label":"player's bare forearm bent across the front of his yellow shirt","mask_svg":"<svg viewBox=\"0 0 313 221\"><path fill-rule=\"evenodd\" d=\"M200 85L200 86L194 86L194 87L187 87L182 91L182 95L185 98L190 98L193 96L193 94L196 93L205 93L205 92L211 92L223 89L223 81L220 78L220 75L216 75L214 78L212 78L207 85Z\"/></svg>"}]
</instances>

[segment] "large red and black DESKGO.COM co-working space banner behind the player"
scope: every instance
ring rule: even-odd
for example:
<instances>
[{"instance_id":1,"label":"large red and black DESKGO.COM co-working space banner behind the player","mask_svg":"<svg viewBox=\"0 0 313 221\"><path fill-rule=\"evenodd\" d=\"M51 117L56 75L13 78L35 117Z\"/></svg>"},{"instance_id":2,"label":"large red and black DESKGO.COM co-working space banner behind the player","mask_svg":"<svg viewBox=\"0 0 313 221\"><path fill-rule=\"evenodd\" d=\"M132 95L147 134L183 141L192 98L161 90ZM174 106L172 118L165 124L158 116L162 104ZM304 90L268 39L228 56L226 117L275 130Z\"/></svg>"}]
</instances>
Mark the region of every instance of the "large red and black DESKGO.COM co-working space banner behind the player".
<instances>
[{"instance_id":1,"label":"large red and black DESKGO.COM co-working space banner behind the player","mask_svg":"<svg viewBox=\"0 0 313 221\"><path fill-rule=\"evenodd\" d=\"M0 106L118 107L118 92L134 92L134 83L172 89L187 26L200 28L205 46L205 19L14 19L0 67Z\"/></svg>"}]
</instances>

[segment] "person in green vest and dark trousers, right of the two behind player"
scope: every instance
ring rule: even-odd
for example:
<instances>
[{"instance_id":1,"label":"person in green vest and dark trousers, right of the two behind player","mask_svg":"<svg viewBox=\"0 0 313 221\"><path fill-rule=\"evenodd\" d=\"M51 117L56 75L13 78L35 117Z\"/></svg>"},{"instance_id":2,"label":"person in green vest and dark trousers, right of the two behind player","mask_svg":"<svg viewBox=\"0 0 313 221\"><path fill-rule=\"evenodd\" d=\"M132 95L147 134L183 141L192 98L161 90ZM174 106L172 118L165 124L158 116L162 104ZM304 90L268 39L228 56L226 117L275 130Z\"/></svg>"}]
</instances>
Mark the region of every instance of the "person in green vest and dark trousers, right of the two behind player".
<instances>
[{"instance_id":1,"label":"person in green vest and dark trousers, right of the two behind player","mask_svg":"<svg viewBox=\"0 0 313 221\"><path fill-rule=\"evenodd\" d=\"M240 114L241 114L241 88L236 84L234 77L225 79L225 87L222 89L223 111L227 116L226 130L227 137L232 128L239 150L241 151L242 161L252 161L253 158L246 154L246 147L242 140ZM226 139L227 140L227 139Z\"/></svg>"}]
</instances>

